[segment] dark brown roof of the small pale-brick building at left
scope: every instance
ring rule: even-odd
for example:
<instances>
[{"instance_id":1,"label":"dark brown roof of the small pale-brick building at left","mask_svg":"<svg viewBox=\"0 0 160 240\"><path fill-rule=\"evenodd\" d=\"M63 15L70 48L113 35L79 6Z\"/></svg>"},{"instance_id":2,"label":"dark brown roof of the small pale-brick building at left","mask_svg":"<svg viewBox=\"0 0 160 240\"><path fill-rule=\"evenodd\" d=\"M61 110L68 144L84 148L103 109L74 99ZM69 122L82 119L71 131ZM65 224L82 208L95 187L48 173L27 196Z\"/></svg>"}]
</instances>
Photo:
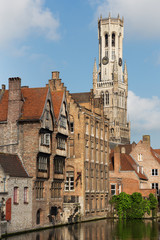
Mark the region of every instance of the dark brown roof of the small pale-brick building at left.
<instances>
[{"instance_id":1,"label":"dark brown roof of the small pale-brick building at left","mask_svg":"<svg viewBox=\"0 0 160 240\"><path fill-rule=\"evenodd\" d=\"M16 154L0 153L0 165L10 177L29 177Z\"/></svg>"}]
</instances>

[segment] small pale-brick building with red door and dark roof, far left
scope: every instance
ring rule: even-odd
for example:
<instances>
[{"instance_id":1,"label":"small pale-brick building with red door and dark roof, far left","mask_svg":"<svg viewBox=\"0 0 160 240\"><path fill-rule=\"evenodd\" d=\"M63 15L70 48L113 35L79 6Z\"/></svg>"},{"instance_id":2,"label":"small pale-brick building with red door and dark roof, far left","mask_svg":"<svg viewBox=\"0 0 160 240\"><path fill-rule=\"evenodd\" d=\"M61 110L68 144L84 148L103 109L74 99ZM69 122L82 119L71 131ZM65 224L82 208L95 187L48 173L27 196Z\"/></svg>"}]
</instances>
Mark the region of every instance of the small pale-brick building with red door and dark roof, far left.
<instances>
[{"instance_id":1,"label":"small pale-brick building with red door and dark roof, far left","mask_svg":"<svg viewBox=\"0 0 160 240\"><path fill-rule=\"evenodd\" d=\"M14 154L0 154L0 202L2 233L32 227L32 179Z\"/></svg>"}]
</instances>

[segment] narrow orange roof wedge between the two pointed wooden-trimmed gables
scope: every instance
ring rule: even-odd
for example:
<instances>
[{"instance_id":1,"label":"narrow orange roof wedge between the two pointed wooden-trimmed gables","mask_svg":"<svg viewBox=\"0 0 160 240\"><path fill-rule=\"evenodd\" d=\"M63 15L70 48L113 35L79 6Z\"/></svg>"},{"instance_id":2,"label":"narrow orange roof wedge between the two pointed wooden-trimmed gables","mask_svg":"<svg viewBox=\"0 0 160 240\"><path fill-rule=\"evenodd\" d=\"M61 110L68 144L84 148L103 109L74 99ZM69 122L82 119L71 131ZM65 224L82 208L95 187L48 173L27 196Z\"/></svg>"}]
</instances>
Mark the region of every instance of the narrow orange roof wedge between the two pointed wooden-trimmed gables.
<instances>
[{"instance_id":1,"label":"narrow orange roof wedge between the two pointed wooden-trimmed gables","mask_svg":"<svg viewBox=\"0 0 160 240\"><path fill-rule=\"evenodd\" d=\"M54 115L55 115L56 119L58 119L58 117L59 117L60 109L62 106L63 94L64 94L63 91L52 91L51 92Z\"/></svg>"}]
</instances>

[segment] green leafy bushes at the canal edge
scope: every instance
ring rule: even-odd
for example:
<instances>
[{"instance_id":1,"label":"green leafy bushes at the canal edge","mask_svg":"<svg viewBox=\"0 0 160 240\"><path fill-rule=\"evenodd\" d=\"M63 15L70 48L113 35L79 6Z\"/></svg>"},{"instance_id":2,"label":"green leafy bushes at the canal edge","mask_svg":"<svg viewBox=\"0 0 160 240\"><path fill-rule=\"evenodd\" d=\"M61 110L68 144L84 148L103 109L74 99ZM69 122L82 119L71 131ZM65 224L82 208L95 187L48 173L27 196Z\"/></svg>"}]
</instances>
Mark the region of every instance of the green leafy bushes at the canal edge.
<instances>
[{"instance_id":1,"label":"green leafy bushes at the canal edge","mask_svg":"<svg viewBox=\"0 0 160 240\"><path fill-rule=\"evenodd\" d=\"M150 214L150 210L157 208L157 200L153 194L150 194L149 200L143 199L141 193L132 195L124 192L114 195L110 200L117 211L118 217L121 218L142 218L145 213Z\"/></svg>"}]
</instances>

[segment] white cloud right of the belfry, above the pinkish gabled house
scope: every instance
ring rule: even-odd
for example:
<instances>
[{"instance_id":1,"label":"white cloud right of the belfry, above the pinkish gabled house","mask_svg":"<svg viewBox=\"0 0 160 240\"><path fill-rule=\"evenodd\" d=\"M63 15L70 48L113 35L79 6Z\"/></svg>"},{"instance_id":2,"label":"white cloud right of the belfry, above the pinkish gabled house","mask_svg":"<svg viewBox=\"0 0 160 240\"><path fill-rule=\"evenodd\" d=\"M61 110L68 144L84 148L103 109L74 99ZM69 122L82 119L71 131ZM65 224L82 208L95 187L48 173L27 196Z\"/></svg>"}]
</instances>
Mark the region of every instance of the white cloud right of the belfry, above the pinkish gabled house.
<instances>
[{"instance_id":1,"label":"white cloud right of the belfry, above the pinkish gabled house","mask_svg":"<svg viewBox=\"0 0 160 240\"><path fill-rule=\"evenodd\" d=\"M160 130L160 99L158 97L141 98L129 91L128 114L131 129Z\"/></svg>"}]
</instances>

